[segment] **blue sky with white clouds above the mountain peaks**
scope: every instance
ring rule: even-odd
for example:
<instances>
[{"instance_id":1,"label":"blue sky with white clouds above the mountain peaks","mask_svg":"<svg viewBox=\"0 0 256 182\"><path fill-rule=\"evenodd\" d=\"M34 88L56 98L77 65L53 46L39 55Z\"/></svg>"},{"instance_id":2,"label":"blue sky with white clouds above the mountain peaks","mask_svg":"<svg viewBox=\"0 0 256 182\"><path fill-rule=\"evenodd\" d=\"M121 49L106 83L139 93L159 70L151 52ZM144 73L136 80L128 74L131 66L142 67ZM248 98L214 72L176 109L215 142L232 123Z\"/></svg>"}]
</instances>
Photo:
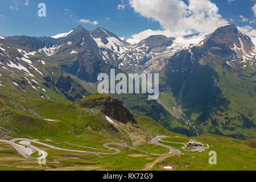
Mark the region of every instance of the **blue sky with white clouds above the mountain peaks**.
<instances>
[{"instance_id":1,"label":"blue sky with white clouds above the mountain peaks","mask_svg":"<svg viewBox=\"0 0 256 182\"><path fill-rule=\"evenodd\" d=\"M40 17L39 3L46 5ZM255 0L5 0L0 2L0 36L53 36L81 24L104 27L137 43L150 35L168 37L213 32L227 24L256 36Z\"/></svg>"}]
</instances>

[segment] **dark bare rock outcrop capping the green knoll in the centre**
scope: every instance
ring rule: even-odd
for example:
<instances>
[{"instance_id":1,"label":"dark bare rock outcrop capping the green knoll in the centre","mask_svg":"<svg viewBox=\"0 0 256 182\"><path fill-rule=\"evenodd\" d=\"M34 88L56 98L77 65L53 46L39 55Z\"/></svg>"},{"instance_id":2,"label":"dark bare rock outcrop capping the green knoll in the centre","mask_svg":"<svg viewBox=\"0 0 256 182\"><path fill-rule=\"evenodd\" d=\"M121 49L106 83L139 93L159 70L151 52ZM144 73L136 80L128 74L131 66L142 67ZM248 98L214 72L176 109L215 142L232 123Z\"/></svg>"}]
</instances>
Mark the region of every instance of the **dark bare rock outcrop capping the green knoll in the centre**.
<instances>
[{"instance_id":1,"label":"dark bare rock outcrop capping the green knoll in the centre","mask_svg":"<svg viewBox=\"0 0 256 182\"><path fill-rule=\"evenodd\" d=\"M112 117L122 123L137 123L133 114L131 114L130 111L122 105L121 101L111 96L95 98L93 100L85 99L77 101L76 103L82 107L98 108L106 116Z\"/></svg>"}]
</instances>

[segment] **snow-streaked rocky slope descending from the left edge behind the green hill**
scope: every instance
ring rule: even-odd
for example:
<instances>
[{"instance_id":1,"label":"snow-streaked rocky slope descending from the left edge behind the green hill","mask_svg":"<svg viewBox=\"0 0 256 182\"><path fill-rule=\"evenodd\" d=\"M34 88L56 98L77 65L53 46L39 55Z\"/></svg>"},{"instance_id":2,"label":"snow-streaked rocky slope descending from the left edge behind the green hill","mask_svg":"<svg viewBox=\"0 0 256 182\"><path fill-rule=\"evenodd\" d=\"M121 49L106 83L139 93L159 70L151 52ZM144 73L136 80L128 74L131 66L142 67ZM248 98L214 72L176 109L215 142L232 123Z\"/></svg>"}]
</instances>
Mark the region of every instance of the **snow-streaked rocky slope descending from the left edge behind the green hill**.
<instances>
[{"instance_id":1,"label":"snow-streaked rocky slope descending from the left edge behind the green hill","mask_svg":"<svg viewBox=\"0 0 256 182\"><path fill-rule=\"evenodd\" d=\"M89 93L77 81L35 49L39 45L37 40L27 40L34 39L24 36L15 37L15 40L0 39L2 95L59 101L88 96Z\"/></svg>"}]
</instances>

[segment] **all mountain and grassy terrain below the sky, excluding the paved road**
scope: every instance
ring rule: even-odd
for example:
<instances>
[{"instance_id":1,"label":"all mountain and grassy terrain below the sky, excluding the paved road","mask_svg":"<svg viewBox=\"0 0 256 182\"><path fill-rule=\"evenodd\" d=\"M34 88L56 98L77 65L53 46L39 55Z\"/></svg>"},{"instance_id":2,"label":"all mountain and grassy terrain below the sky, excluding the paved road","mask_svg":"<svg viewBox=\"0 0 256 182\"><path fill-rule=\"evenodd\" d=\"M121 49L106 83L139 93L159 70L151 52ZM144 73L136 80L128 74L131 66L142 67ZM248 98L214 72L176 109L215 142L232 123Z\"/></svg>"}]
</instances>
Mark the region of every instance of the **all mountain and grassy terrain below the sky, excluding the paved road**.
<instances>
[{"instance_id":1,"label":"all mountain and grassy terrain below the sky, excluding the paved road","mask_svg":"<svg viewBox=\"0 0 256 182\"><path fill-rule=\"evenodd\" d=\"M97 77L110 69L159 73L158 100L98 94ZM37 143L48 153L46 166L38 166L0 143L0 170L256 169L255 69L256 38L234 25L175 38L154 35L134 45L102 27L0 38L0 139L97 154ZM171 136L163 140L182 154L148 143L156 135ZM189 140L217 151L220 165L206 165L206 152L171 143ZM104 150L121 153L100 154Z\"/></svg>"}]
</instances>

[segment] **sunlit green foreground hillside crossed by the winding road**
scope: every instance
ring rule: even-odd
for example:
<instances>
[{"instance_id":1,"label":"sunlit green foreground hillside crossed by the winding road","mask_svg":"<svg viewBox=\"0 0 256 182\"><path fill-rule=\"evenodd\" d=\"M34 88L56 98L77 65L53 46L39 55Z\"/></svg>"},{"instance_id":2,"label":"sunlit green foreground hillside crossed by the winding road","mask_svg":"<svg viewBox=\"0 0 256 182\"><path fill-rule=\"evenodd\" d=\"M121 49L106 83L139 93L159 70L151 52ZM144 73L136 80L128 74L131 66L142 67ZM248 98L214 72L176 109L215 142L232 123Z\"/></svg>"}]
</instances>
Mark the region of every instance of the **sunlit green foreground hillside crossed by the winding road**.
<instances>
[{"instance_id":1,"label":"sunlit green foreground hillside crossed by the winding road","mask_svg":"<svg viewBox=\"0 0 256 182\"><path fill-rule=\"evenodd\" d=\"M256 169L255 139L243 141L210 134L200 137L170 134L158 122L148 117L137 118L138 126L125 125L115 121L113 127L97 110L76 108L72 103L22 101L19 102L20 106L22 104L27 109L33 108L34 111L34 114L28 112L22 114L19 109L11 109L10 106L7 106L9 105L7 100L4 101L6 105L1 105L1 113L5 116L2 116L0 126L11 131L12 138L37 139L57 147L98 152L104 149L102 144L106 142L127 143L130 146L135 144L141 150L165 154L168 152L166 148L147 144L147 141L154 135L168 135L171 137L164 140L188 142L190 139L195 139L209 144L210 148L205 153L189 152L183 151L180 144L164 143L179 149L183 154L157 157L129 148L113 146L119 148L121 153L106 156L57 151L35 144L36 147L42 148L49 154L44 166L39 165L35 160L24 159L13 147L0 143L0 170L164 170L164 166L172 166L174 170ZM13 110L14 113L6 110ZM9 115L6 115L7 113ZM36 117L35 113L47 119L55 119L55 121L44 121L42 118ZM141 142L136 143L138 140ZM217 152L217 165L214 166L210 166L208 163L208 154L212 150Z\"/></svg>"}]
</instances>

